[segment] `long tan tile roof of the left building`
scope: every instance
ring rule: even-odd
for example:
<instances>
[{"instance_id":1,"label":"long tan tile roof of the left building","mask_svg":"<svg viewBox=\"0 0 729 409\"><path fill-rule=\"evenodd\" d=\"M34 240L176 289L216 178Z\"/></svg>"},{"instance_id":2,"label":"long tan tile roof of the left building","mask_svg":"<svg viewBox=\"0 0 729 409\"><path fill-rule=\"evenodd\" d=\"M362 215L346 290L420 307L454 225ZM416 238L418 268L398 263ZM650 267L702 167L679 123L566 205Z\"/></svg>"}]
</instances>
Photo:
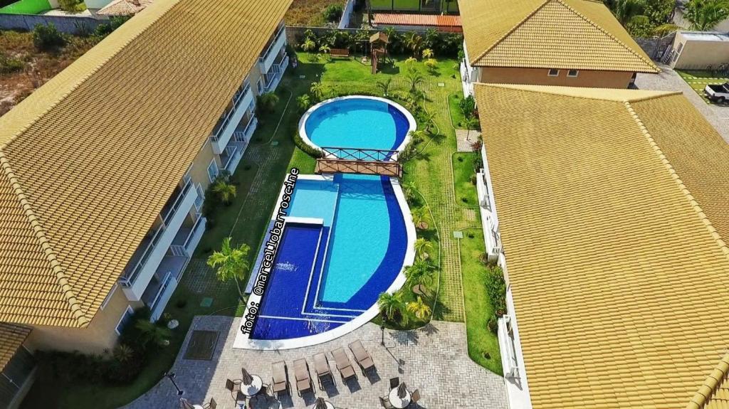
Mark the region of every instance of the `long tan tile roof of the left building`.
<instances>
[{"instance_id":1,"label":"long tan tile roof of the left building","mask_svg":"<svg viewBox=\"0 0 729 409\"><path fill-rule=\"evenodd\" d=\"M0 321L83 327L290 0L160 0L0 117Z\"/></svg>"}]
</instances>

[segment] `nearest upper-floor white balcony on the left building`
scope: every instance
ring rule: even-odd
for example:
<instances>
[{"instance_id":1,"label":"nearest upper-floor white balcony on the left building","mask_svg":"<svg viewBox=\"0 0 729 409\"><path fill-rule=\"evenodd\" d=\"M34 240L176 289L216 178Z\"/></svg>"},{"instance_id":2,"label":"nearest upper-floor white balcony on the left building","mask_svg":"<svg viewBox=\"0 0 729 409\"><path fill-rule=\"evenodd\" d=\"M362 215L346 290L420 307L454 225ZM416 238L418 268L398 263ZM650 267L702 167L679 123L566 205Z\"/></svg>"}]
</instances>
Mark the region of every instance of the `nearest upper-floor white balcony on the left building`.
<instances>
[{"instance_id":1,"label":"nearest upper-floor white balcony on the left building","mask_svg":"<svg viewBox=\"0 0 729 409\"><path fill-rule=\"evenodd\" d=\"M191 180L187 180L182 188L176 189L176 194L163 207L160 212L160 225L142 242L120 278L130 301L141 299L152 275L160 266L197 199L197 189Z\"/></svg>"}]
</instances>

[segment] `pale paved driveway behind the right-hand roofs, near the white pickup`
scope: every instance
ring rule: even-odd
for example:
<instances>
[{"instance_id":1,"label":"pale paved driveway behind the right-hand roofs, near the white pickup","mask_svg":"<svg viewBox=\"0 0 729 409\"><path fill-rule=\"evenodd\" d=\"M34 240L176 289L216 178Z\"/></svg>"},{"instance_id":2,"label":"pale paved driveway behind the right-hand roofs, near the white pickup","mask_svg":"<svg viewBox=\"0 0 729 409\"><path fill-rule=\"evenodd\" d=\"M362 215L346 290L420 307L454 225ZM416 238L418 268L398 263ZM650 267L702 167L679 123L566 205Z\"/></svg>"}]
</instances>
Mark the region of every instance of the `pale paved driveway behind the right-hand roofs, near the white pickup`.
<instances>
[{"instance_id":1,"label":"pale paved driveway behind the right-hand roofs, near the white pickup","mask_svg":"<svg viewBox=\"0 0 729 409\"><path fill-rule=\"evenodd\" d=\"M681 91L701 114L714 125L722 138L729 143L729 106L706 103L686 82L668 65L659 65L660 74L638 74L636 86L642 90Z\"/></svg>"}]
</instances>

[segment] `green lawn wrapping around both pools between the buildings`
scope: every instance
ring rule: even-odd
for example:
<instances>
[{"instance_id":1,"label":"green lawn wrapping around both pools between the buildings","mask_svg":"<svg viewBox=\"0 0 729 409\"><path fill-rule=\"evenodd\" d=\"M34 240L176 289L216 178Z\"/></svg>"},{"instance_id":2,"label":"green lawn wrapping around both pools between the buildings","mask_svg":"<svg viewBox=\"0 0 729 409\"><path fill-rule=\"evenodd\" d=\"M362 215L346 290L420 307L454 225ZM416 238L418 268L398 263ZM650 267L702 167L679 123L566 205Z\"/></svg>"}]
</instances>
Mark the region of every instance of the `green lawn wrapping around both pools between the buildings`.
<instances>
[{"instance_id":1,"label":"green lawn wrapping around both pools between the buildings","mask_svg":"<svg viewBox=\"0 0 729 409\"><path fill-rule=\"evenodd\" d=\"M338 94L378 95L381 94L381 90L376 82L388 78L393 79L392 92L404 92L408 87L403 75L405 57L397 58L392 64L383 65L383 72L375 76L370 74L368 65L362 65L353 59L311 63L310 56L300 54L299 60L299 66L296 69L289 69L278 87L276 93L279 102L276 111L273 114L259 116L260 124L251 146L232 176L238 194L230 206L219 209L217 222L209 227L196 250L193 261L198 265L201 263L203 267L198 267L199 269L204 270L207 255L211 250L218 248L222 239L229 235L233 237L234 243L246 243L251 247L249 261L252 262L287 170L298 167L303 173L313 172L314 159L296 148L293 141L300 118L296 98L307 93L313 81L321 79L332 92ZM448 96L460 89L457 71L453 68L455 63L455 60L440 60L437 73L434 75L427 74L423 63L418 62L414 65L426 76L426 82L421 85L426 94L425 108L436 114L434 122L439 131L436 132L437 135L424 140L418 146L421 154L416 159L405 164L403 182L413 183L421 194L421 196L416 195L413 205L426 206L433 215L429 220L429 229L418 231L418 237L424 237L432 242L434 250L430 259L441 267L432 294L426 300L435 305L434 317L463 322L468 314L469 351L472 351L472 357L480 365L500 373L500 368L494 366L496 365L494 360L498 361L499 356L495 338L489 335L488 331L483 333L477 330L485 328L480 320L486 319L490 314L488 310L490 303L478 279L481 273L477 255L484 251L483 239L480 238L480 234L473 239L463 239L459 253L459 243L452 237L453 231L464 227L473 228L469 231L480 231L478 222L467 215L467 212L474 210L459 206L459 203L449 198L450 194L447 194L450 191L457 200L465 196L468 198L468 204L476 204L475 187L470 184L470 173L473 169L471 157L474 154L456 154L463 157L464 161L453 159L456 162L451 162L456 151L456 139L451 127L449 111L452 110L448 109L451 103ZM300 79L300 76L304 78ZM457 261L459 257L463 269L462 276ZM206 279L214 282L212 275L214 273L209 271L206 274L209 274ZM154 361L149 362L136 381L126 386L65 385L42 378L34 386L23 408L36 408L42 405L53 408L115 408L149 390L174 362L192 317L200 314L241 313L238 293L233 283L198 294L193 293L185 285L186 279L190 277L192 276L188 269L166 310L180 322L171 345L155 357ZM200 306L200 301L204 297L214 299L211 306ZM405 301L411 301L414 296L406 291L405 298ZM187 304L184 308L179 308L178 302L182 300L187 301ZM472 317L477 318L472 319ZM407 327L421 324L423 322L410 322ZM489 352L492 359L479 358L480 355L476 351Z\"/></svg>"}]
</instances>

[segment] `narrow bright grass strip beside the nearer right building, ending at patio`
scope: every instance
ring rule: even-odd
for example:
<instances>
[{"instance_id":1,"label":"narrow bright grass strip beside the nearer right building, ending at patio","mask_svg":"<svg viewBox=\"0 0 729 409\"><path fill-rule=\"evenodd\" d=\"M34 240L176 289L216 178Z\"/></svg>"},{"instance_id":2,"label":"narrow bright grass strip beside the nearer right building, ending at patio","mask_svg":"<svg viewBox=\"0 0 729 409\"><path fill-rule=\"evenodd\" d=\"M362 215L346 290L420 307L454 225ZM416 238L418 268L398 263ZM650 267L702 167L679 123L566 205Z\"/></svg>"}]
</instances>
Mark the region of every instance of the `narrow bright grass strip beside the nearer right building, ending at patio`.
<instances>
[{"instance_id":1,"label":"narrow bright grass strip beside the nearer right building, ending at patio","mask_svg":"<svg viewBox=\"0 0 729 409\"><path fill-rule=\"evenodd\" d=\"M486 326L488 318L494 315L494 306L486 295L486 266L480 262L485 250L483 233L480 229L468 229L459 245L463 286L467 289L464 303L468 354L478 365L502 375L499 340Z\"/></svg>"}]
</instances>

